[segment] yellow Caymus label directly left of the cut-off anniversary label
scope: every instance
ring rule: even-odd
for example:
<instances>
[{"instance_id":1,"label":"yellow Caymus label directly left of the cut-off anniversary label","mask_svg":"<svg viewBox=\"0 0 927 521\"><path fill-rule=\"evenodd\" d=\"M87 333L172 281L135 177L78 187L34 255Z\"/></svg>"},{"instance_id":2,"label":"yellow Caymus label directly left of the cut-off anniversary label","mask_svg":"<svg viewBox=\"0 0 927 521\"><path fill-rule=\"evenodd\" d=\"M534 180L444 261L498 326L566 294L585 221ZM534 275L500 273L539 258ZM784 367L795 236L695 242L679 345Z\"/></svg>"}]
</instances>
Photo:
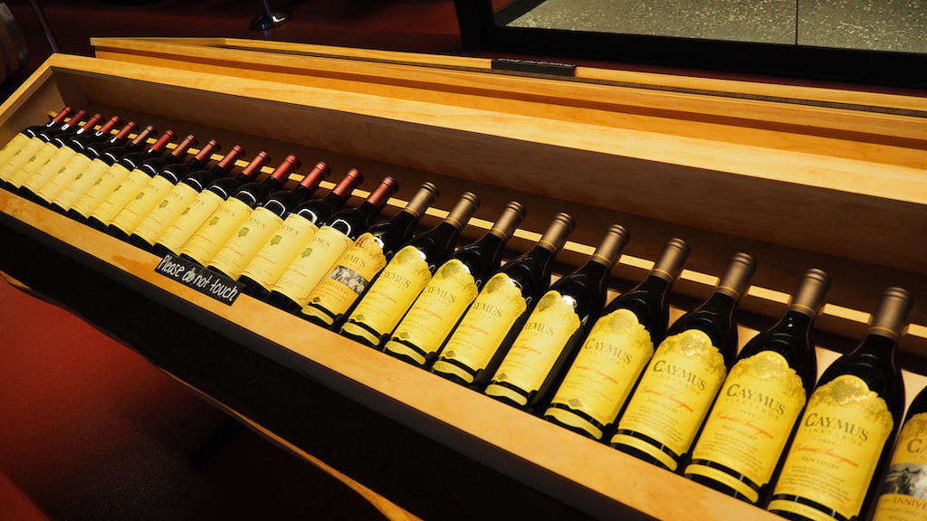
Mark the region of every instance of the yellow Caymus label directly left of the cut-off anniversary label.
<instances>
[{"instance_id":1,"label":"yellow Caymus label directly left of the cut-off anniversary label","mask_svg":"<svg viewBox=\"0 0 927 521\"><path fill-rule=\"evenodd\" d=\"M885 400L865 381L837 376L811 394L773 495L806 498L846 518L860 515L894 426ZM768 508L796 512L798 504L778 500Z\"/></svg>"}]
</instances>

